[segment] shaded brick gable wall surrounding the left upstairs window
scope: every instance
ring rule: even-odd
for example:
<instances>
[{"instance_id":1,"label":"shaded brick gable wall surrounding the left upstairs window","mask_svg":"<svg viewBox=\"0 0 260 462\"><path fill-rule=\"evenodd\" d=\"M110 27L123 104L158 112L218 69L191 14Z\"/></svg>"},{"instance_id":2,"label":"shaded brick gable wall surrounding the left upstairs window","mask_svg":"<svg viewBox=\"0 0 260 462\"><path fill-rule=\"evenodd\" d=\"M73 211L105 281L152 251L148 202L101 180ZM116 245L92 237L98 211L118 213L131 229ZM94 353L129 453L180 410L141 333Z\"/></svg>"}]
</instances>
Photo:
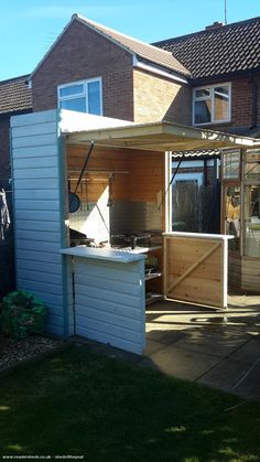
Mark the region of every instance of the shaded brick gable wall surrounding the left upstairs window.
<instances>
[{"instance_id":1,"label":"shaded brick gable wall surrounding the left upstairs window","mask_svg":"<svg viewBox=\"0 0 260 462\"><path fill-rule=\"evenodd\" d=\"M33 110L57 106L57 85L98 76L104 116L133 120L131 54L74 21L33 75Z\"/></svg>"}]
</instances>

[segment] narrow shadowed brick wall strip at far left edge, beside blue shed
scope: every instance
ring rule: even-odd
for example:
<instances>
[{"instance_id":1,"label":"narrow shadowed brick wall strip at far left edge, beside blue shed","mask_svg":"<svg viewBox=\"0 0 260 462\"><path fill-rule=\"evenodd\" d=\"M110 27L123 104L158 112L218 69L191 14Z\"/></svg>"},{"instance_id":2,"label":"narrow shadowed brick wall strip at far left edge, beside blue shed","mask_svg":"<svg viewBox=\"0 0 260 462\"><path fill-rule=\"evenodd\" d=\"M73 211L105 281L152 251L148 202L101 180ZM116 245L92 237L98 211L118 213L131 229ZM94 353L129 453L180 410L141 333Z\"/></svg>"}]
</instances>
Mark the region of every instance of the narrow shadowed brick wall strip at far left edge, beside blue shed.
<instances>
[{"instance_id":1,"label":"narrow shadowed brick wall strip at far left edge, beside blue shed","mask_svg":"<svg viewBox=\"0 0 260 462\"><path fill-rule=\"evenodd\" d=\"M10 118L0 118L0 185L8 184L11 176L9 154L9 123Z\"/></svg>"}]
</instances>

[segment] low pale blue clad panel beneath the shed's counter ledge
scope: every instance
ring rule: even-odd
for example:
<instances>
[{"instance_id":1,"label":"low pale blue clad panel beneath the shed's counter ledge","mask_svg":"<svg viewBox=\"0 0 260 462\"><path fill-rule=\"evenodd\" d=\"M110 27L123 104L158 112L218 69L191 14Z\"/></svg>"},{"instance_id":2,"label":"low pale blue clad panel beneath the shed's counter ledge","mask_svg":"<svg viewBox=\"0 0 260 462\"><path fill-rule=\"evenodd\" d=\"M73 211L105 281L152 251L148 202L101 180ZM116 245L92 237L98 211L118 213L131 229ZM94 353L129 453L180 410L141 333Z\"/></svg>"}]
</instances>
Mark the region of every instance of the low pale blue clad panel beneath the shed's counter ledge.
<instances>
[{"instance_id":1,"label":"low pale blue clad panel beneath the shed's counter ledge","mask_svg":"<svg viewBox=\"0 0 260 462\"><path fill-rule=\"evenodd\" d=\"M74 268L76 334L141 354L145 345L143 260L122 264L74 257Z\"/></svg>"}]
</instances>

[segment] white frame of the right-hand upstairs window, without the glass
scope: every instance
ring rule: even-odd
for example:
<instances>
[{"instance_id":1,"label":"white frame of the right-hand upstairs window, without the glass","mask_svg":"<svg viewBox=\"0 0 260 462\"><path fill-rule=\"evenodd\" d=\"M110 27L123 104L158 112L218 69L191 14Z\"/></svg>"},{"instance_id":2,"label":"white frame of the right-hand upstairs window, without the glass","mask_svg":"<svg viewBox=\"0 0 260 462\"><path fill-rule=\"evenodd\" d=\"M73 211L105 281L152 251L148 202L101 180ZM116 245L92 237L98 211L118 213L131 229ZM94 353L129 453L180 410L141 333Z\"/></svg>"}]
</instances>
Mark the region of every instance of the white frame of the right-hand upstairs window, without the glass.
<instances>
[{"instance_id":1,"label":"white frame of the right-hand upstairs window, without the glass","mask_svg":"<svg viewBox=\"0 0 260 462\"><path fill-rule=\"evenodd\" d=\"M214 89L216 87L220 87L220 86L228 87L228 93L229 93L228 118L227 119L223 119L223 120L215 120L214 119L214 115L215 115ZM208 89L209 90L209 96L202 96L202 97L196 97L195 98L195 92L198 90L198 89ZM210 101L212 101L210 121L208 121L208 122L202 122L202 123L196 123L195 122L195 103L196 101L205 101L207 99L210 99ZM225 82L225 83L215 84L215 85L203 85L203 86L193 88L193 125L194 126L206 126L206 125L213 125L213 123L227 123L227 122L230 122L230 121L231 121L231 83L230 82Z\"/></svg>"}]
</instances>

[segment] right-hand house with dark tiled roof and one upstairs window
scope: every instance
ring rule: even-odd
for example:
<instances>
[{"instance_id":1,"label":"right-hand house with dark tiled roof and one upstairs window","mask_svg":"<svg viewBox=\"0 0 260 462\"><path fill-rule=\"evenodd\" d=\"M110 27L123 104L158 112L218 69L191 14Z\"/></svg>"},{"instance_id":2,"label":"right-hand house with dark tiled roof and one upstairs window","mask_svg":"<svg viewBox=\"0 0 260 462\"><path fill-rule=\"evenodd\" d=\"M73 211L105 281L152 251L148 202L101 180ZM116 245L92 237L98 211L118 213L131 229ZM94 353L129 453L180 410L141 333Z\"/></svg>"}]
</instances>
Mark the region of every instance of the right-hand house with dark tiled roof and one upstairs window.
<instances>
[{"instance_id":1,"label":"right-hand house with dark tiled roof and one upstairs window","mask_svg":"<svg viewBox=\"0 0 260 462\"><path fill-rule=\"evenodd\" d=\"M193 126L260 136L260 17L154 45L191 73Z\"/></svg>"}]
</instances>

